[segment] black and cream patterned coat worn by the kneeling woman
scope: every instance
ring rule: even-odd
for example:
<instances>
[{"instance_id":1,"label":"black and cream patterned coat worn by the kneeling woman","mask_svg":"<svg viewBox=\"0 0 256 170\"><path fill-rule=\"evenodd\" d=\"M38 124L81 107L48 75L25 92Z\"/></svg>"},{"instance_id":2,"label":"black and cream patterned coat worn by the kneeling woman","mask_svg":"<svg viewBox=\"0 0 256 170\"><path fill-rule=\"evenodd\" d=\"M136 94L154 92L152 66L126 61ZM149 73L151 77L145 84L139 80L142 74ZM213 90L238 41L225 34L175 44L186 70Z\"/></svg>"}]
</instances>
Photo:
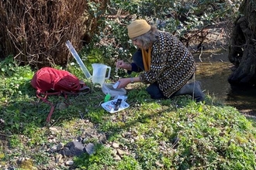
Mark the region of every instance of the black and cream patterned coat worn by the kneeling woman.
<instances>
[{"instance_id":1,"label":"black and cream patterned coat worn by the kneeling woman","mask_svg":"<svg viewBox=\"0 0 256 170\"><path fill-rule=\"evenodd\" d=\"M150 70L140 73L143 83L157 82L165 97L182 88L195 73L195 59L182 42L159 32L151 51Z\"/></svg>"}]
</instances>

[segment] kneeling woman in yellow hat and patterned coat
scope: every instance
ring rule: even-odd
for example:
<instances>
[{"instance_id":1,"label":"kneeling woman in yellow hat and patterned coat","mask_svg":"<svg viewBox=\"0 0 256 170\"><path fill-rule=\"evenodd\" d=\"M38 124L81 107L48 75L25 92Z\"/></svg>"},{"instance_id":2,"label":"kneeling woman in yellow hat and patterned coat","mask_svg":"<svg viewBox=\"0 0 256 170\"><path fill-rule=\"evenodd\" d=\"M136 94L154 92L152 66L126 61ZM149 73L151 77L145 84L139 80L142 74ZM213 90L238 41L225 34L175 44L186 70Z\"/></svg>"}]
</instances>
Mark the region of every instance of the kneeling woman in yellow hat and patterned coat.
<instances>
[{"instance_id":1,"label":"kneeling woman in yellow hat and patterned coat","mask_svg":"<svg viewBox=\"0 0 256 170\"><path fill-rule=\"evenodd\" d=\"M150 84L147 93L151 98L170 98L191 95L197 102L204 100L200 83L188 83L195 73L195 59L182 42L171 33L161 32L144 19L137 19L127 26L128 36L138 47L133 63L116 62L117 68L141 72L137 77L119 79L118 88L129 83Z\"/></svg>"}]
</instances>

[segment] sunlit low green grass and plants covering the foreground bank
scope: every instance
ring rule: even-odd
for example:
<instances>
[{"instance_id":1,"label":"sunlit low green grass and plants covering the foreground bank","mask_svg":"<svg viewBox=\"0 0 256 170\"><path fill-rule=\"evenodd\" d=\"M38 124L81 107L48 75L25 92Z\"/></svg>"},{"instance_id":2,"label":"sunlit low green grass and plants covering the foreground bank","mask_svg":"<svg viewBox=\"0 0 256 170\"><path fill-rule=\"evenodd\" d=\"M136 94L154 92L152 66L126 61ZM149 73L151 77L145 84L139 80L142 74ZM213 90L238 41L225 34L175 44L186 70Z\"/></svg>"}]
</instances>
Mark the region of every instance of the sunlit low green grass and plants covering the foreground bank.
<instances>
[{"instance_id":1,"label":"sunlit low green grass and plants covering the foreground bank","mask_svg":"<svg viewBox=\"0 0 256 170\"><path fill-rule=\"evenodd\" d=\"M256 131L236 108L206 97L195 103L190 97L152 100L140 85L127 93L130 107L109 114L100 107L105 95L99 87L92 93L68 96L71 105L61 107L63 97L50 97L56 110L46 124L50 106L36 98L29 80L33 71L5 59L1 73L0 165L20 169L68 169L53 163L47 150L57 143L78 138L88 128L104 133L106 144L92 140L93 155L72 157L76 169L254 169ZM83 77L76 66L71 73ZM85 80L86 81L86 80ZM90 82L89 87L92 87ZM57 128L54 132L50 128ZM125 152L116 161L119 144ZM19 158L29 158L15 162Z\"/></svg>"}]
</instances>

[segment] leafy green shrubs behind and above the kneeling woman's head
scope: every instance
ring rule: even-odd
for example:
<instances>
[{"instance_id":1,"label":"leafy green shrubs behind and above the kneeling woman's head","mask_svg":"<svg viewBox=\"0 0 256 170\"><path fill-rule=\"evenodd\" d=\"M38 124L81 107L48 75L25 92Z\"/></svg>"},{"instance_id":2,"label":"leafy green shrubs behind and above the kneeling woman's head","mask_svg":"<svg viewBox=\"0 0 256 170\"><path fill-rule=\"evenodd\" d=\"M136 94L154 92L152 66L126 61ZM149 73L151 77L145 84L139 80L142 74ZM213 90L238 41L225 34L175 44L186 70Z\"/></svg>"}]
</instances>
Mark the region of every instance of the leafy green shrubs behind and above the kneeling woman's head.
<instances>
[{"instance_id":1,"label":"leafy green shrubs behind and above the kneeling woman's head","mask_svg":"<svg viewBox=\"0 0 256 170\"><path fill-rule=\"evenodd\" d=\"M99 26L100 33L93 35L92 42L83 50L86 56L84 59L88 59L92 53L101 53L102 63L108 66L114 66L116 59L130 61L135 48L126 35L126 26L130 20L136 18L147 19L158 29L172 32L187 46L201 41L202 32L207 32L208 28L214 26L218 27L221 23L227 26L223 31L228 39L229 27L238 15L237 8L240 2L240 0L176 0L171 2L169 0L111 0L106 15L115 16L118 12L117 15L126 17L102 18Z\"/></svg>"}]
</instances>

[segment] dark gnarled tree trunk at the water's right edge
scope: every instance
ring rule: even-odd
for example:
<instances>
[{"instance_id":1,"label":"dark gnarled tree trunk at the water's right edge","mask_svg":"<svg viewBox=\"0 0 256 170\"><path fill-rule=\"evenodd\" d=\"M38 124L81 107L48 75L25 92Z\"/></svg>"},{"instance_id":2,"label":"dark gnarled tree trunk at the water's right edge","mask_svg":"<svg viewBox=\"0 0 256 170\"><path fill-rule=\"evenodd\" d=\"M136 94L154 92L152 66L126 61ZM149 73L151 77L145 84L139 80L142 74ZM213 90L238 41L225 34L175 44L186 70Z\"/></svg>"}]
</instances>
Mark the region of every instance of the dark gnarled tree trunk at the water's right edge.
<instances>
[{"instance_id":1,"label":"dark gnarled tree trunk at the water's right edge","mask_svg":"<svg viewBox=\"0 0 256 170\"><path fill-rule=\"evenodd\" d=\"M234 22L229 50L235 70L228 78L230 84L254 86L256 83L256 0L244 0L240 15Z\"/></svg>"}]
</instances>

